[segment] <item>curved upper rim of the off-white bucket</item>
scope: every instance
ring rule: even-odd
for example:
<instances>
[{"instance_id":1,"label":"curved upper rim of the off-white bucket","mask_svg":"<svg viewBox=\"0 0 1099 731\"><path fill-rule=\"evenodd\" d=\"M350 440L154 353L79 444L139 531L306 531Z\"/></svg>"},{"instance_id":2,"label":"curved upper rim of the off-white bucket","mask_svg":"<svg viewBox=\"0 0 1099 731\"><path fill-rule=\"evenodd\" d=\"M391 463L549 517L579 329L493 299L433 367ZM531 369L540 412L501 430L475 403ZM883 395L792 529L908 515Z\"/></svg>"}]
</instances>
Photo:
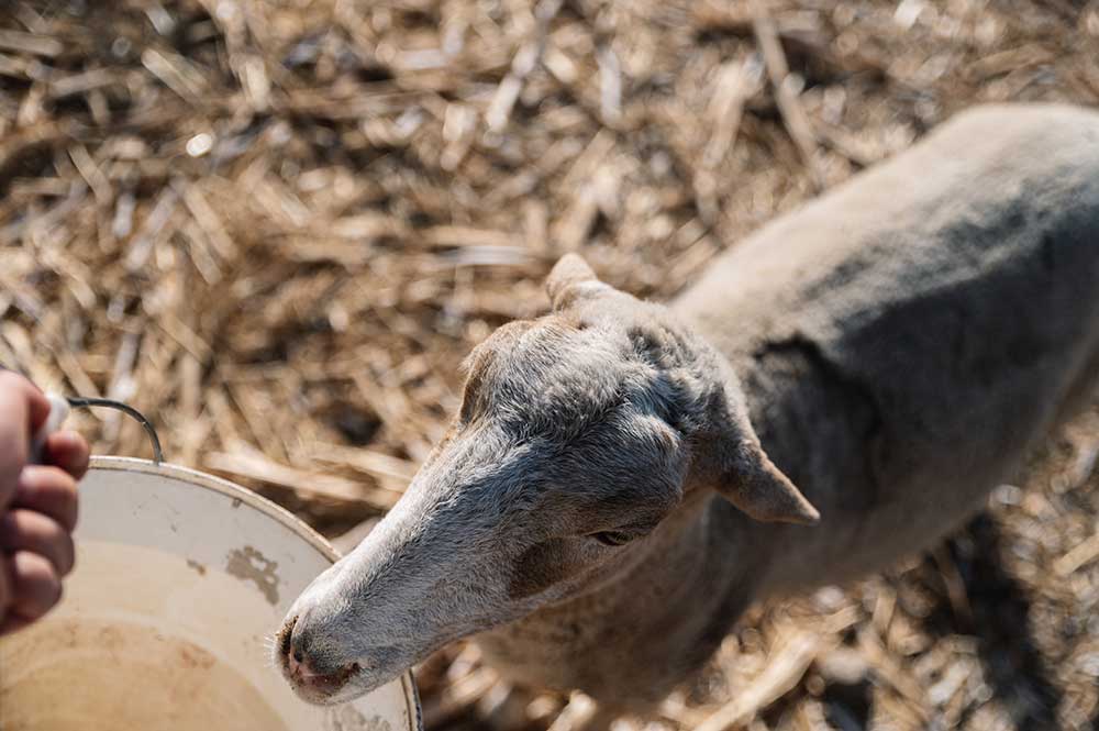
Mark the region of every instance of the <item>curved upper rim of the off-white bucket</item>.
<instances>
[{"instance_id":1,"label":"curved upper rim of the off-white bucket","mask_svg":"<svg viewBox=\"0 0 1099 731\"><path fill-rule=\"evenodd\" d=\"M182 467L166 462L152 462L138 457L118 457L95 455L91 457L88 469L107 472L129 472L143 475L164 475L187 483L192 487L202 488L212 492L219 492L241 500L251 508L258 510L267 517L276 520L285 528L290 529L309 545L317 549L331 563L340 560L340 552L332 547L332 544L323 535L307 525L292 512L276 505L271 500L236 485L224 477L210 475L190 467ZM423 711L420 707L420 691L412 677L412 671L401 674L401 689L404 691L404 701L408 704L409 718L412 719L411 731L423 731Z\"/></svg>"}]
</instances>

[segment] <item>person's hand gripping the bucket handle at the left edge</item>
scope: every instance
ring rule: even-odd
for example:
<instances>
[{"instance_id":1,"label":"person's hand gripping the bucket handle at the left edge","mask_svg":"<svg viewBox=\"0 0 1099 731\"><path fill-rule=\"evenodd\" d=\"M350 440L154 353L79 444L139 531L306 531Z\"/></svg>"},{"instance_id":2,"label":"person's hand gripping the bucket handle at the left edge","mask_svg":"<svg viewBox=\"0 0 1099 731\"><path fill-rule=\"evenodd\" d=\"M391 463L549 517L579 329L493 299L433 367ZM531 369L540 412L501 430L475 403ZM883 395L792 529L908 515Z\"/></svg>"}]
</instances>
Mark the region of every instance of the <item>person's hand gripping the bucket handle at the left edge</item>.
<instances>
[{"instance_id":1,"label":"person's hand gripping the bucket handle at the left edge","mask_svg":"<svg viewBox=\"0 0 1099 731\"><path fill-rule=\"evenodd\" d=\"M79 434L47 440L41 465L27 464L32 435L49 402L25 378L0 373L0 634L45 614L73 569L76 483L88 469Z\"/></svg>"}]
</instances>

